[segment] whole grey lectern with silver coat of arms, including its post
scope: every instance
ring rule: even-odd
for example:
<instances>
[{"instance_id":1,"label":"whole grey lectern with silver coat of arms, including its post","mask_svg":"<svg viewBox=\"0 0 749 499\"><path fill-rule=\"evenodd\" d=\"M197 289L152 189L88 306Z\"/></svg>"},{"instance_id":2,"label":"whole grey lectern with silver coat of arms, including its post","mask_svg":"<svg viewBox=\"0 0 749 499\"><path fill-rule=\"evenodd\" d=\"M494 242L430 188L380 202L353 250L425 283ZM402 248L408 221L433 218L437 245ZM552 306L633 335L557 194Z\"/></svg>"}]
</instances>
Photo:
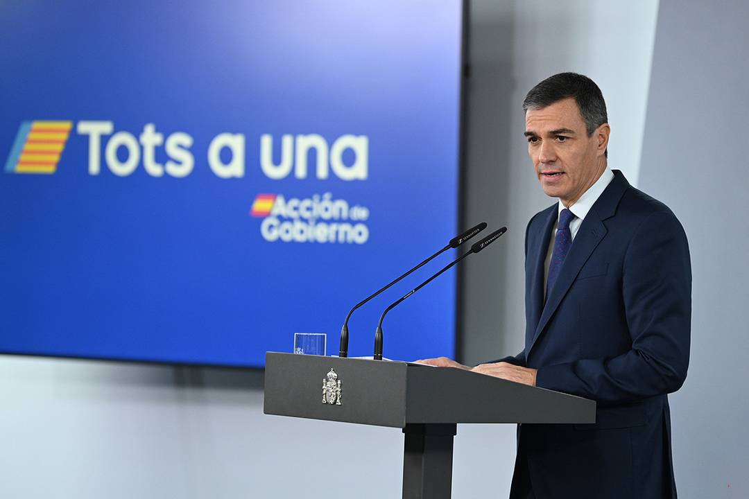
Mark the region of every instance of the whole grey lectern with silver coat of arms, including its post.
<instances>
[{"instance_id":1,"label":"whole grey lectern with silver coat of arms, including its post","mask_svg":"<svg viewBox=\"0 0 749 499\"><path fill-rule=\"evenodd\" d=\"M265 414L401 428L403 498L449 498L457 423L595 423L595 402L467 370L267 352Z\"/></svg>"}]
</instances>

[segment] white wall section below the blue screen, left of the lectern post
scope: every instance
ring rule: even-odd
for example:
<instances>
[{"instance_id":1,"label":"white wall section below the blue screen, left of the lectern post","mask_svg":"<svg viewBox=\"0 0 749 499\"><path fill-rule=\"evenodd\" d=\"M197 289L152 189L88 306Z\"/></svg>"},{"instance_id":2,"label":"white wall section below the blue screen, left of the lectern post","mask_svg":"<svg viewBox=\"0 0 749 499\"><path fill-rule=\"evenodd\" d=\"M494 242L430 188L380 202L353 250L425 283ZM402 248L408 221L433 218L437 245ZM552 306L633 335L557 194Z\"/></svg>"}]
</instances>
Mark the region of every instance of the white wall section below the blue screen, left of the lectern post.
<instances>
[{"instance_id":1,"label":"white wall section below the blue screen, left of the lectern post","mask_svg":"<svg viewBox=\"0 0 749 499\"><path fill-rule=\"evenodd\" d=\"M398 495L398 430L265 416L262 383L260 371L2 357L0 498Z\"/></svg>"}]
</instances>

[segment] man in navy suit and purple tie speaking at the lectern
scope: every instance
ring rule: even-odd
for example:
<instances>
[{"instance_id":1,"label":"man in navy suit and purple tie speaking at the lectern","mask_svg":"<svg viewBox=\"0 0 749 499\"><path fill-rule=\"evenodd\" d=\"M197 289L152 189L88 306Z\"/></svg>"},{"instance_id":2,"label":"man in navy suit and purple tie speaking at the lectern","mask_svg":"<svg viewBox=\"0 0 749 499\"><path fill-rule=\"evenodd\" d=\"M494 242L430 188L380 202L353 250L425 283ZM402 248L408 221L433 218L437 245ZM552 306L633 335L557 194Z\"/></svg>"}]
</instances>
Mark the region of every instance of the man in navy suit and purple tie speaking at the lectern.
<instances>
[{"instance_id":1,"label":"man in navy suit and purple tie speaking at the lectern","mask_svg":"<svg viewBox=\"0 0 749 499\"><path fill-rule=\"evenodd\" d=\"M523 107L529 156L558 202L526 230L523 352L473 370L598 404L595 424L518 426L510 497L675 498L667 394L689 361L684 230L608 168L606 105L592 80L551 76Z\"/></svg>"}]
</instances>

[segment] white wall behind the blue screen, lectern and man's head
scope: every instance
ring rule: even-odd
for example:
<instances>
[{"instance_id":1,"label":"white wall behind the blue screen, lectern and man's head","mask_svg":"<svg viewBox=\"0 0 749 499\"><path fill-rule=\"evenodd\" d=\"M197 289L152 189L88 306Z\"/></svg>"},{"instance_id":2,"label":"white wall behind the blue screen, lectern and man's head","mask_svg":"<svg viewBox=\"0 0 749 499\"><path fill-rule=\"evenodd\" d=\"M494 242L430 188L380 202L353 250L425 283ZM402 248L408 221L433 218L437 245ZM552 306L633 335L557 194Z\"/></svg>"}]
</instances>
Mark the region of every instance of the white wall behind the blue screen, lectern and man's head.
<instances>
[{"instance_id":1,"label":"white wall behind the blue screen, lectern and man's head","mask_svg":"<svg viewBox=\"0 0 749 499\"><path fill-rule=\"evenodd\" d=\"M472 2L464 219L510 232L463 274L467 361L522 345L523 233L550 204L525 156L525 92L592 76L611 164L637 177L657 2L557 3ZM264 416L261 387L258 372L0 356L0 498L398 497L398 430ZM514 434L458 427L455 498L503 497Z\"/></svg>"}]
</instances>

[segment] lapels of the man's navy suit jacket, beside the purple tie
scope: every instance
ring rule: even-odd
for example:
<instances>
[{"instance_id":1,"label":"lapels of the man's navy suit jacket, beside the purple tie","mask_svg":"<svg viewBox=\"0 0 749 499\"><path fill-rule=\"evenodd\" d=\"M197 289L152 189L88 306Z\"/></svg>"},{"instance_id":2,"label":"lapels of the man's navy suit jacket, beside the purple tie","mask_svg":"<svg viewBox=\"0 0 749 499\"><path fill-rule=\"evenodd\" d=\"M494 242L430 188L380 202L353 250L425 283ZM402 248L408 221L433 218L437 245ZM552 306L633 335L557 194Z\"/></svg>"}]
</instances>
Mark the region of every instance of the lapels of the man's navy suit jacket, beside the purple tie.
<instances>
[{"instance_id":1,"label":"lapels of the man's navy suit jacket, beside the purple tie","mask_svg":"<svg viewBox=\"0 0 749 499\"><path fill-rule=\"evenodd\" d=\"M560 270L560 275L557 277L557 282L554 283L554 288L546 299L546 304L542 309L541 317L536 326L536 331L533 332L533 339L530 340L530 344L528 342L526 343L526 359L529 358L533 346L536 344L536 341L538 341L542 331L544 331L544 328L551 319L551 316L554 315L557 307L559 307L562 299L572 286L572 283L574 283L577 274L580 273L580 269L583 268L596 246L598 246L598 243L600 243L601 239L606 235L607 229L603 221L606 218L613 216L616 212L616 206L619 204L619 200L622 199L622 195L624 195L625 190L629 187L629 183L620 171L615 170L613 173L614 180L612 180L607 186L601 194L601 197L593 203L585 220L583 220L583 223L580 225L577 235L574 237L572 246L565 258L564 265L562 265L562 269ZM549 236L545 238L546 244L542 245L540 250L543 252L544 256L548 251L549 242L551 241L551 227L548 227L547 232ZM541 261L542 287L543 273L545 272L543 267L544 261L545 260ZM543 291L541 297L543 300Z\"/></svg>"}]
</instances>

